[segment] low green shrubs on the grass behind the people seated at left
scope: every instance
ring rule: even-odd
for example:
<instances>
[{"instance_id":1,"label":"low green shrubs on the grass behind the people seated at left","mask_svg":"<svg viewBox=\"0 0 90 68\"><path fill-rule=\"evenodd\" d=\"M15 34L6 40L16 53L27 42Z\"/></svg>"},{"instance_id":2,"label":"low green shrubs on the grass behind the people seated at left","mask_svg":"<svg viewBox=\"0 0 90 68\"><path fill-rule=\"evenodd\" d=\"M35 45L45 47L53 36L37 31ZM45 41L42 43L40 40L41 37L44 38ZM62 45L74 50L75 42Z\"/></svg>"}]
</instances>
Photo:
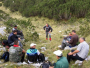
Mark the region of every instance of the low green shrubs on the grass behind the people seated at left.
<instances>
[{"instance_id":1,"label":"low green shrubs on the grass behind the people seated at left","mask_svg":"<svg viewBox=\"0 0 90 68\"><path fill-rule=\"evenodd\" d=\"M35 31L35 26L32 25L30 20L26 21L26 20L9 19L8 21L4 22L4 24L7 25L6 31L8 33L12 32L12 28L14 27L14 25L18 25L18 29L20 30L22 30L22 28L25 29L24 31L25 41L30 40L37 41L39 39L39 35Z\"/></svg>"}]
</instances>

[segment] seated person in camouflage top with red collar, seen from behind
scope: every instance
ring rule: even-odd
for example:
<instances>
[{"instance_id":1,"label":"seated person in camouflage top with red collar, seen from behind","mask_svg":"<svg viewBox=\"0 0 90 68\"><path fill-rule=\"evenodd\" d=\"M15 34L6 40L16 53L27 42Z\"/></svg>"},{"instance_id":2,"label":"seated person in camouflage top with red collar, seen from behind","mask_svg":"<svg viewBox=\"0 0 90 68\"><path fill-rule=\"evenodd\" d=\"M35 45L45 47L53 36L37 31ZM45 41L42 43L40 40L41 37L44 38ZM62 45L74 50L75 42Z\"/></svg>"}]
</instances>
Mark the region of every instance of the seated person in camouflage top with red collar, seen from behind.
<instances>
[{"instance_id":1,"label":"seated person in camouflage top with red collar, seen from behind","mask_svg":"<svg viewBox=\"0 0 90 68\"><path fill-rule=\"evenodd\" d=\"M18 40L14 41L14 45L9 48L9 60L11 62L23 62L25 50L19 46Z\"/></svg>"}]
</instances>

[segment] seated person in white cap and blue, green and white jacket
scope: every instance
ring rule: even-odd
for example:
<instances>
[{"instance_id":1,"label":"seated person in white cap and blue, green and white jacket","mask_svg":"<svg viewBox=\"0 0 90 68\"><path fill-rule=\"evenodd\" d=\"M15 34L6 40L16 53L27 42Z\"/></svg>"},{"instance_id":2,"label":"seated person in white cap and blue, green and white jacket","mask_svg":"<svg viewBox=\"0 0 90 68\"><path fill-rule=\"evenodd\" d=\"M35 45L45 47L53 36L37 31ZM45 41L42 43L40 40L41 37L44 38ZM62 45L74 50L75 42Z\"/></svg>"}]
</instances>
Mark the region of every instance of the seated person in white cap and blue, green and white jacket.
<instances>
[{"instance_id":1,"label":"seated person in white cap and blue, green and white jacket","mask_svg":"<svg viewBox=\"0 0 90 68\"><path fill-rule=\"evenodd\" d=\"M36 44L30 44L30 49L27 50L28 62L37 62L38 55L40 55L40 52L36 49Z\"/></svg>"}]
</instances>

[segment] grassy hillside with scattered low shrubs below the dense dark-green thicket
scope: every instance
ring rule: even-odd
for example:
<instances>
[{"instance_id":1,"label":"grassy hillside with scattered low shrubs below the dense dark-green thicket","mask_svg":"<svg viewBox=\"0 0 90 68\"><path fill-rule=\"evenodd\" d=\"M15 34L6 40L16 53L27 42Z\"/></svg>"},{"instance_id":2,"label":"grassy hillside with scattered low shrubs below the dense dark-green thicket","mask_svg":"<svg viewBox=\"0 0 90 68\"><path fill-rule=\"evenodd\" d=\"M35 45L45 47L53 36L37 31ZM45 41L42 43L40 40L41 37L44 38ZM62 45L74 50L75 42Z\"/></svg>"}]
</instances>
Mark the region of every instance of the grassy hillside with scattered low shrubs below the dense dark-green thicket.
<instances>
[{"instance_id":1,"label":"grassy hillside with scattered low shrubs below the dense dark-green thicket","mask_svg":"<svg viewBox=\"0 0 90 68\"><path fill-rule=\"evenodd\" d=\"M56 62L56 56L53 54L53 52L55 50L58 50L58 46L61 45L61 42L63 40L63 35L68 35L68 33L75 29L77 31L77 34L79 35L79 37L85 37L86 41L90 44L90 20L89 18L80 18L80 19L70 19L68 21L55 21L53 19L48 19L45 17L23 17L21 16L21 14L17 11L17 12L11 12L9 10L9 8L5 8L4 6L0 6L0 22L3 23L4 26L7 27L6 33L8 33L8 31L11 32L11 29L13 28L13 24L17 24L19 29L23 31L24 33L24 49L27 50L28 48L30 48L30 44L32 42L37 44L37 49L40 50L40 52L42 52L41 47L46 47L46 51L42 52L45 54L46 57L48 57L49 61L51 62ZM28 24L25 24L28 23ZM42 29L43 26L49 23L52 28L53 28L53 32L52 34L52 41L50 42L49 40L47 41L45 39L45 32ZM31 35L31 28L30 26L35 26L34 27L34 31L36 31L39 34L39 39L37 37L32 38ZM9 28L9 29L8 29ZM30 36L28 36L27 34L30 34ZM7 38L6 36L2 36L0 37L0 40L2 40L2 38ZM32 40L33 39L33 40ZM37 39L35 41L35 39ZM67 53L70 50L66 50L63 51L63 56L66 57ZM90 55L90 52L89 52ZM78 65L73 65L74 62L72 62L70 64L70 68L89 68L90 61L84 61L82 66L78 66ZM6 65L8 64L8 65ZM3 68L33 68L30 65L15 65L11 62L7 62L7 63L3 63L0 64L0 67Z\"/></svg>"}]
</instances>

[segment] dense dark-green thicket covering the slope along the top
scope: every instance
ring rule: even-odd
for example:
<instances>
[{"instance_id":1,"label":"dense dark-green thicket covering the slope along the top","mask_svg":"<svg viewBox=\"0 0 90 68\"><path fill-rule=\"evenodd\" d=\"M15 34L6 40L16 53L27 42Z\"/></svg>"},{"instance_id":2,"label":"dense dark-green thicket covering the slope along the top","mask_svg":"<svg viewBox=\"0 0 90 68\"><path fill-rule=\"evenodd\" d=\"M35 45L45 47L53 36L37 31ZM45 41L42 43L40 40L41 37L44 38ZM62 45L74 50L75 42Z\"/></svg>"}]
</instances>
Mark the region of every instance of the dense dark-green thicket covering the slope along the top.
<instances>
[{"instance_id":1,"label":"dense dark-green thicket covering the slope along the top","mask_svg":"<svg viewBox=\"0 0 90 68\"><path fill-rule=\"evenodd\" d=\"M4 0L4 6L26 17L44 16L60 20L85 17L90 10L90 0Z\"/></svg>"}]
</instances>

